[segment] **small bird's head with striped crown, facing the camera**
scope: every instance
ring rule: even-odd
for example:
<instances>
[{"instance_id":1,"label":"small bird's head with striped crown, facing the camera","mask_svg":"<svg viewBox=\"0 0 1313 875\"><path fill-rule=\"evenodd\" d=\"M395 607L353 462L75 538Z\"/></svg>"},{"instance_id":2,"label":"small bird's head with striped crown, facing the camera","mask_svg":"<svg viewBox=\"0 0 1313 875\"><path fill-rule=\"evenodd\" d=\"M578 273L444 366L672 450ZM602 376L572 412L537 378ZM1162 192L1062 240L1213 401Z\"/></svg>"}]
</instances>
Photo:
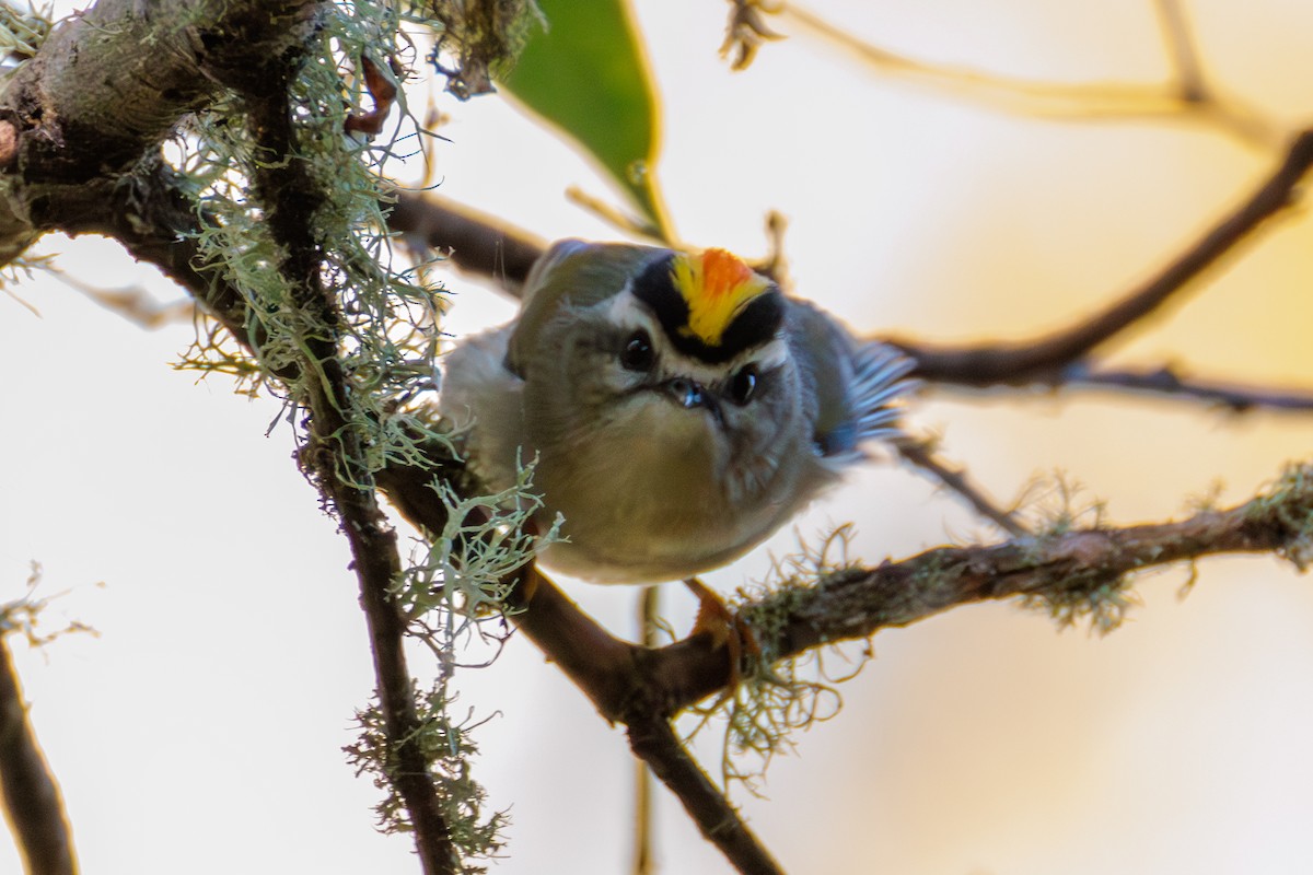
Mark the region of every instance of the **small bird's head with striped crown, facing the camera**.
<instances>
[{"instance_id":1,"label":"small bird's head with striped crown, facing the camera","mask_svg":"<svg viewBox=\"0 0 1313 875\"><path fill-rule=\"evenodd\" d=\"M777 484L796 437L810 436L783 296L716 258L733 256L655 257L601 300L562 294L540 323L525 426L557 489L679 492L730 508Z\"/></svg>"}]
</instances>

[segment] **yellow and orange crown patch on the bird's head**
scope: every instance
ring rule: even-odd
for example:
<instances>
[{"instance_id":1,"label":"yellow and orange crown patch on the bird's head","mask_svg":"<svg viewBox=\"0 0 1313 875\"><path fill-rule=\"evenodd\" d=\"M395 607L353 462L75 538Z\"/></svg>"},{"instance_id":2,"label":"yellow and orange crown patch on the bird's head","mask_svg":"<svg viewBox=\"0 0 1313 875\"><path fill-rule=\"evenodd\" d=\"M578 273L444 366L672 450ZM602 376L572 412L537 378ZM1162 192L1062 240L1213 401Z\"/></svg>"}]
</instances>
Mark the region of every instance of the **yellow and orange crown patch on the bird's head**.
<instances>
[{"instance_id":1,"label":"yellow and orange crown patch on the bird's head","mask_svg":"<svg viewBox=\"0 0 1313 875\"><path fill-rule=\"evenodd\" d=\"M725 249L675 256L672 278L688 303L688 325L680 332L708 346L720 346L734 317L771 287L769 279Z\"/></svg>"}]
</instances>

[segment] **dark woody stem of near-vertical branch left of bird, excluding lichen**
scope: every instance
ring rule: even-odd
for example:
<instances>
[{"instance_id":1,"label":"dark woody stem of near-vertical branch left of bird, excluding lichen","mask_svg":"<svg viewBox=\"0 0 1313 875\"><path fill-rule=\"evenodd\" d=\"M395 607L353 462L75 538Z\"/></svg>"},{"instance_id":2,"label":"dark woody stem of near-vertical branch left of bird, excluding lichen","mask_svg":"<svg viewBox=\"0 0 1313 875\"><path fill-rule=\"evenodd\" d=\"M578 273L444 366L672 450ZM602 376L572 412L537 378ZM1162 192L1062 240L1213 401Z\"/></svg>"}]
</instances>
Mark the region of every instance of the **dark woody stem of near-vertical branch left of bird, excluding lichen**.
<instances>
[{"instance_id":1,"label":"dark woody stem of near-vertical branch left of bird, excluding lichen","mask_svg":"<svg viewBox=\"0 0 1313 875\"><path fill-rule=\"evenodd\" d=\"M301 153L288 100L289 73L288 67L260 71L255 81L263 91L247 92L251 130L269 155ZM298 366L297 396L309 413L310 437L301 451L301 464L337 517L351 546L369 626L379 710L395 757L387 777L404 803L425 875L454 875L461 868L460 854L423 748L414 681L406 662L406 622L391 592L402 576L397 533L378 505L373 475L365 467L366 438L360 424L351 418L355 390L339 358L341 314L322 282L324 252L315 220L324 195L309 164L299 160L265 164L253 182L270 234L285 253L278 269L291 283L295 304L306 316L297 337L297 346L306 353Z\"/></svg>"}]
</instances>

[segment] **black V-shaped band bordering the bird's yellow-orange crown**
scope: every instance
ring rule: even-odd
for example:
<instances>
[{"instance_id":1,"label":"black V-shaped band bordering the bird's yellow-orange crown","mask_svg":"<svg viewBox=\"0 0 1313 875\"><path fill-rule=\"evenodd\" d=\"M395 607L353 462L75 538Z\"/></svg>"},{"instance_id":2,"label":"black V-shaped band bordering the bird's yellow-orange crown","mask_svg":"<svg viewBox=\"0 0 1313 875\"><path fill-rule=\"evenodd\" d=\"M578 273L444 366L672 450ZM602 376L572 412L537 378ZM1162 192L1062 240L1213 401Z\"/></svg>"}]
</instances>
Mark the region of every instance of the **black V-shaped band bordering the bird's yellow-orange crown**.
<instances>
[{"instance_id":1,"label":"black V-shaped band bordering the bird's yellow-orange crown","mask_svg":"<svg viewBox=\"0 0 1313 875\"><path fill-rule=\"evenodd\" d=\"M633 285L634 296L656 316L671 346L708 365L720 365L744 349L767 342L780 331L784 321L784 295L779 286L772 285L734 316L720 344L704 342L688 329L688 302L675 287L674 260L674 253L653 260Z\"/></svg>"}]
</instances>

